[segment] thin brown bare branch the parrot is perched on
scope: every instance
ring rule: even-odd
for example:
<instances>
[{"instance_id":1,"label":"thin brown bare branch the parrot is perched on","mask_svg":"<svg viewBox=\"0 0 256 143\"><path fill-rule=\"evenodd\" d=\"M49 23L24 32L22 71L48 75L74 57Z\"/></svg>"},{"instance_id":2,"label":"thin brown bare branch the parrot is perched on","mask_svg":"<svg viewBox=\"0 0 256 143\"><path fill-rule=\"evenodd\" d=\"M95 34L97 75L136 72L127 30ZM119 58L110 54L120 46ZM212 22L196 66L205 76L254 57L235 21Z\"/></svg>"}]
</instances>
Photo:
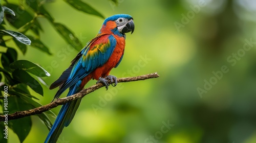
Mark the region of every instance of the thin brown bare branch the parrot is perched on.
<instances>
[{"instance_id":1,"label":"thin brown bare branch the parrot is perched on","mask_svg":"<svg viewBox=\"0 0 256 143\"><path fill-rule=\"evenodd\" d=\"M118 78L117 82L132 82L132 81L146 80L146 79L152 79L152 78L157 78L157 77L159 77L159 75L157 73L152 73L152 74L142 75L142 76L138 76L138 77ZM109 83L110 83L110 81L109 81ZM34 109L30 109L30 110L26 110L26 111L18 111L18 112L9 114L8 115L8 121L15 120L15 119L18 119L18 118L22 118L22 117L25 117L25 116L41 114L42 112L48 111L48 110L50 110L52 108L55 108L59 105L63 105L65 103L76 100L78 98L83 98L87 94L89 94L89 93L91 93L91 92L93 92L93 91L95 91L95 90L97 90L97 89L99 89L103 86L104 85L102 83L98 83L98 84L93 85L91 87L88 87L86 89L82 89L80 92L75 93L72 96L57 99L57 100L55 100L52 103L49 103L47 105L40 106L38 108L34 108ZM5 121L5 116L4 115L0 115L0 121Z\"/></svg>"}]
</instances>

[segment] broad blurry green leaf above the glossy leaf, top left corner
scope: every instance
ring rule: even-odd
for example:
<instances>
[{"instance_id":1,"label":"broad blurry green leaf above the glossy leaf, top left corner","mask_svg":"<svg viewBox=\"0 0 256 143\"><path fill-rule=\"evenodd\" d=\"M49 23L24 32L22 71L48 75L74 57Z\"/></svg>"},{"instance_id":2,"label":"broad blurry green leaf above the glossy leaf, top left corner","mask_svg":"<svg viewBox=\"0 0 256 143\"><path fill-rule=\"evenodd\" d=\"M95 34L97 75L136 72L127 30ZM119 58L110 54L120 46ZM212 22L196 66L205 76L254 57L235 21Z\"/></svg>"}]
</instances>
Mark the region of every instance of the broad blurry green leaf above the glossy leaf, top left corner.
<instances>
[{"instance_id":1,"label":"broad blurry green leaf above the glossy leaf, top left corner","mask_svg":"<svg viewBox=\"0 0 256 143\"><path fill-rule=\"evenodd\" d=\"M12 9L14 13L16 13L16 16L6 13L6 19L13 27L19 29L26 25L26 23L29 21L33 20L33 16L26 11L24 7L10 3L6 4L5 6Z\"/></svg>"}]
</instances>

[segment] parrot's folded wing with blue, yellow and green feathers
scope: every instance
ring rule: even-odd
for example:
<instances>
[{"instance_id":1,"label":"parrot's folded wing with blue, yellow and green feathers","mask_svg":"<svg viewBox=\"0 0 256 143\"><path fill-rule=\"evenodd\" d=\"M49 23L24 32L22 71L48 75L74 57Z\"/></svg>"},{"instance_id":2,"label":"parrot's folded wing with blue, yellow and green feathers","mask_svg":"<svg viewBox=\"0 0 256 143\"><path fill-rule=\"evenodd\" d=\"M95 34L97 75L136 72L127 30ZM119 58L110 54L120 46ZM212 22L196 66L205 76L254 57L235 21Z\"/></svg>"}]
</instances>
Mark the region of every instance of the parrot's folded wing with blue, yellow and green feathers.
<instances>
[{"instance_id":1,"label":"parrot's folded wing with blue, yellow and green feathers","mask_svg":"<svg viewBox=\"0 0 256 143\"><path fill-rule=\"evenodd\" d=\"M105 37L102 37L105 36ZM102 66L113 53L116 47L116 39L112 35L102 35L94 38L85 46L75 58L76 61L72 61L73 68L69 74L69 77L65 79L65 83L62 83L59 90L56 92L54 99L59 98L60 94L63 93L73 84L77 83L79 80L83 79L89 75L97 67ZM92 44L97 40L103 41L101 38L107 38L105 43L95 44L95 47L92 47ZM78 57L79 56L79 57ZM60 82L60 81L59 81Z\"/></svg>"}]
</instances>

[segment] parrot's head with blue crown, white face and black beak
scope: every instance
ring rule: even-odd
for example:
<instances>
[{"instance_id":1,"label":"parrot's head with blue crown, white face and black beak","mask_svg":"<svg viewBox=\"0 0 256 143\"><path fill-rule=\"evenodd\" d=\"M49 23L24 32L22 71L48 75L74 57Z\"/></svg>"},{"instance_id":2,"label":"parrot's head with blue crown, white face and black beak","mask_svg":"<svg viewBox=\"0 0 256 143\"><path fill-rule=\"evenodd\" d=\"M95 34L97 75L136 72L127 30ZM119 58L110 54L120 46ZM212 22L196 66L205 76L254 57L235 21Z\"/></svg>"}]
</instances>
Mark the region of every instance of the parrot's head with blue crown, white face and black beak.
<instances>
[{"instance_id":1,"label":"parrot's head with blue crown, white face and black beak","mask_svg":"<svg viewBox=\"0 0 256 143\"><path fill-rule=\"evenodd\" d=\"M127 14L116 14L104 20L99 33L124 36L125 33L134 31L133 17Z\"/></svg>"}]
</instances>

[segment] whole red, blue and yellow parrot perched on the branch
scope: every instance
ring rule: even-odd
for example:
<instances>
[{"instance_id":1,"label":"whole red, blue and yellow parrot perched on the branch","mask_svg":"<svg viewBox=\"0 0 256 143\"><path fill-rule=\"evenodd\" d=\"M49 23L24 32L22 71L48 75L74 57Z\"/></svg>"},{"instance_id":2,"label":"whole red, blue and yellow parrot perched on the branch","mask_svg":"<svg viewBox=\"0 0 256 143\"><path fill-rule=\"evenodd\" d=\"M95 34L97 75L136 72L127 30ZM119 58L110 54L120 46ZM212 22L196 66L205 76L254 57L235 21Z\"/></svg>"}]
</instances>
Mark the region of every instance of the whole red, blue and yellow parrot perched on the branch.
<instances>
[{"instance_id":1,"label":"whole red, blue and yellow parrot perched on the branch","mask_svg":"<svg viewBox=\"0 0 256 143\"><path fill-rule=\"evenodd\" d=\"M96 83L103 83L106 90L110 85L108 80L114 82L112 86L116 86L117 78L110 75L110 71L123 58L125 33L132 34L134 28L131 15L116 14L106 18L95 38L87 42L71 61L71 65L50 85L49 89L59 87L53 101L68 88L67 97L81 91L91 79L97 80ZM81 99L77 99L62 105L45 143L57 142L63 128L69 126L74 118L80 102Z\"/></svg>"}]
</instances>

